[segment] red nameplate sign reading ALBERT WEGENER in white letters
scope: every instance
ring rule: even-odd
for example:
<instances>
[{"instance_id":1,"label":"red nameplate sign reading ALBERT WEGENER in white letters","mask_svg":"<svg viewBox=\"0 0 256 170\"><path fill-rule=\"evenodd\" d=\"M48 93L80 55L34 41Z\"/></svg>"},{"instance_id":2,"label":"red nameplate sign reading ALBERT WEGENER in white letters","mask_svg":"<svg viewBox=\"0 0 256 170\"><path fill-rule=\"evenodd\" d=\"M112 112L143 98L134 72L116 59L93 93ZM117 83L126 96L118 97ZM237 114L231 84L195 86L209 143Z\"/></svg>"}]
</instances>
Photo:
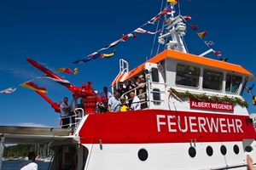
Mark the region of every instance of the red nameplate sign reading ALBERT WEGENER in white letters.
<instances>
[{"instance_id":1,"label":"red nameplate sign reading ALBERT WEGENER in white letters","mask_svg":"<svg viewBox=\"0 0 256 170\"><path fill-rule=\"evenodd\" d=\"M203 109L213 111L234 111L234 105L227 103L218 102L207 102L207 101L195 101L189 99L189 105L191 109Z\"/></svg>"}]
</instances>

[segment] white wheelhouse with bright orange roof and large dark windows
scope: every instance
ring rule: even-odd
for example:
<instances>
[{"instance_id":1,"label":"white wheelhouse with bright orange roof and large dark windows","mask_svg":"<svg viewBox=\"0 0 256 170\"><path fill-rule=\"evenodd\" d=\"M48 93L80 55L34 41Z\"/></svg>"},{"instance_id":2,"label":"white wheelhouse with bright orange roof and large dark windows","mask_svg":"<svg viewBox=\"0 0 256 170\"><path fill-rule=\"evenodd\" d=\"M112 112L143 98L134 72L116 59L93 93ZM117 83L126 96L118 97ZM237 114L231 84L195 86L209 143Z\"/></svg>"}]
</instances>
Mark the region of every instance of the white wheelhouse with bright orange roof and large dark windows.
<instances>
[{"instance_id":1,"label":"white wheelhouse with bright orange roof and large dark windows","mask_svg":"<svg viewBox=\"0 0 256 170\"><path fill-rule=\"evenodd\" d=\"M120 60L119 75L111 86L118 89L119 82L135 82L140 75L145 77L147 109L163 110L169 109L171 88L178 93L242 99L246 83L254 79L241 65L166 49L132 71L125 60Z\"/></svg>"}]
</instances>

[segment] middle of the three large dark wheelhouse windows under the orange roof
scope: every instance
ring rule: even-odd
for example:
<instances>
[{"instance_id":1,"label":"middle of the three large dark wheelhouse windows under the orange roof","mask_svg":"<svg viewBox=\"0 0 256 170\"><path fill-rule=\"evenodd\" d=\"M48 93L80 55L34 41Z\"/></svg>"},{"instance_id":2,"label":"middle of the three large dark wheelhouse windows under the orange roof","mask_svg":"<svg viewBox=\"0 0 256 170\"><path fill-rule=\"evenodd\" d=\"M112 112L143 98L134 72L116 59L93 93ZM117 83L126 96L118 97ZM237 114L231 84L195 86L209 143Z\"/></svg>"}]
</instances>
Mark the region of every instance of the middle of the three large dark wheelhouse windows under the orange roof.
<instances>
[{"instance_id":1,"label":"middle of the three large dark wheelhouse windows under the orange roof","mask_svg":"<svg viewBox=\"0 0 256 170\"><path fill-rule=\"evenodd\" d=\"M223 73L218 71L204 70L203 88L222 90Z\"/></svg>"}]
</instances>

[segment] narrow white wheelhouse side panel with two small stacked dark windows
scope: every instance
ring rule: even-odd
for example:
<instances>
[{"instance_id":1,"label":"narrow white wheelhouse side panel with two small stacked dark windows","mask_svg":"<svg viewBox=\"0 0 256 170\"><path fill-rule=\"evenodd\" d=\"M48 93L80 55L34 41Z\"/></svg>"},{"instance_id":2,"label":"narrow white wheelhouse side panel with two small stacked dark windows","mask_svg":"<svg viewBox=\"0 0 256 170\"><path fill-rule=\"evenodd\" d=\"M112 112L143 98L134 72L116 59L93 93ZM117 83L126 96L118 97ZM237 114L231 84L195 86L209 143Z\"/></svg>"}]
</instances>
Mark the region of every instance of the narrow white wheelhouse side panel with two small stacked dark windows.
<instances>
[{"instance_id":1,"label":"narrow white wheelhouse side panel with two small stacked dark windows","mask_svg":"<svg viewBox=\"0 0 256 170\"><path fill-rule=\"evenodd\" d=\"M155 63L145 64L145 77L148 84L148 108L163 109L166 98L165 70Z\"/></svg>"}]
</instances>

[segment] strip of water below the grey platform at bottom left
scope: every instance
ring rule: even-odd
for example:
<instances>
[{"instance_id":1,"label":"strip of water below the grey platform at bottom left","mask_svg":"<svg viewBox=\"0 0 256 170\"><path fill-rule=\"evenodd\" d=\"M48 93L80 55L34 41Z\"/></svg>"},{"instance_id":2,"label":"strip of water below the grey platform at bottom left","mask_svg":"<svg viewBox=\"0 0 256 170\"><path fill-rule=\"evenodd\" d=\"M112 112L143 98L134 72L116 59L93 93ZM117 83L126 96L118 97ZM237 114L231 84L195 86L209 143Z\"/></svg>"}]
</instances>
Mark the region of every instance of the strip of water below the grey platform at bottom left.
<instances>
[{"instance_id":1,"label":"strip of water below the grey platform at bottom left","mask_svg":"<svg viewBox=\"0 0 256 170\"><path fill-rule=\"evenodd\" d=\"M1 170L16 170L18 169L20 163L22 163L23 160L19 161L2 161L2 168ZM49 162L42 162L42 161L36 161L38 163L38 170L48 170Z\"/></svg>"}]
</instances>

